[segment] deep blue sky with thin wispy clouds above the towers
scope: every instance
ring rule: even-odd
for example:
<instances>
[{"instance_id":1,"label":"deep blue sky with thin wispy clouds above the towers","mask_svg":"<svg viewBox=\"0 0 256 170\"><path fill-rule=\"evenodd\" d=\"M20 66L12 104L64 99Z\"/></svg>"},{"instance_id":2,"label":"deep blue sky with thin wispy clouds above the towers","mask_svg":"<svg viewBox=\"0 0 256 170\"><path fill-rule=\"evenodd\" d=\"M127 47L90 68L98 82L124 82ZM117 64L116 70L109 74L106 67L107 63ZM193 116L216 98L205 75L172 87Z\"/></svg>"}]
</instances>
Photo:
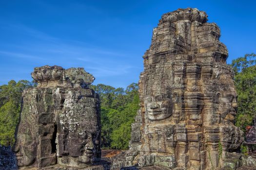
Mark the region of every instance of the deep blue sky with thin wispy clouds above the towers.
<instances>
[{"instance_id":1,"label":"deep blue sky with thin wispy clouds above the towers","mask_svg":"<svg viewBox=\"0 0 256 170\"><path fill-rule=\"evenodd\" d=\"M0 85L34 67L83 67L99 83L138 82L161 15L198 8L221 29L228 63L256 52L254 0L0 0Z\"/></svg>"}]
</instances>

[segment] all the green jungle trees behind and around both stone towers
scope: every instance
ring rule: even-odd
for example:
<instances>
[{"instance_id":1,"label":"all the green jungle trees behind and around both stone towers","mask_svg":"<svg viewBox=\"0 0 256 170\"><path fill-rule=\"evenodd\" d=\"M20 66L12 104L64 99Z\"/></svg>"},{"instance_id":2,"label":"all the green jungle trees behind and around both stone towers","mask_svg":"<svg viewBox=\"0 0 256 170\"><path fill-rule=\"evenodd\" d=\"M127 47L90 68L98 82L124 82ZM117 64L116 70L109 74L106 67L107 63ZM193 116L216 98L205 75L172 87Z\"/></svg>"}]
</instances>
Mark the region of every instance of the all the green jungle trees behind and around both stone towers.
<instances>
[{"instance_id":1,"label":"all the green jungle trees behind and around both stone towers","mask_svg":"<svg viewBox=\"0 0 256 170\"><path fill-rule=\"evenodd\" d=\"M243 131L256 117L256 54L246 54L232 61L238 94L236 126ZM20 117L21 93L35 84L14 80L0 86L0 145L13 145L16 125ZM126 89L109 85L91 85L101 100L102 148L127 149L131 124L139 109L138 84Z\"/></svg>"}]
</instances>

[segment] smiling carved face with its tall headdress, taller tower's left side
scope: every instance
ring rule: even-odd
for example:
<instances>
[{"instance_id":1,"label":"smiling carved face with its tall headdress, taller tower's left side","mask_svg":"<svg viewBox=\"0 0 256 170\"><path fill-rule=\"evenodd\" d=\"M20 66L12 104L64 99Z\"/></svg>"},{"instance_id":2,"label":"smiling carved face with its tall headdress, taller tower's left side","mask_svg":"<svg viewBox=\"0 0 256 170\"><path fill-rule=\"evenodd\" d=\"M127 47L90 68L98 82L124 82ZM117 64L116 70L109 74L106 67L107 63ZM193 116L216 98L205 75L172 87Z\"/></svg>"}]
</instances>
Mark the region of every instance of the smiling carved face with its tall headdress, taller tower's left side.
<instances>
[{"instance_id":1,"label":"smiling carved face with its tall headdress, taller tower's left side","mask_svg":"<svg viewBox=\"0 0 256 170\"><path fill-rule=\"evenodd\" d=\"M173 64L163 63L157 56L149 59L143 77L143 99L146 115L149 120L162 120L170 117L174 111L173 100ZM156 60L156 61L155 61Z\"/></svg>"}]
</instances>

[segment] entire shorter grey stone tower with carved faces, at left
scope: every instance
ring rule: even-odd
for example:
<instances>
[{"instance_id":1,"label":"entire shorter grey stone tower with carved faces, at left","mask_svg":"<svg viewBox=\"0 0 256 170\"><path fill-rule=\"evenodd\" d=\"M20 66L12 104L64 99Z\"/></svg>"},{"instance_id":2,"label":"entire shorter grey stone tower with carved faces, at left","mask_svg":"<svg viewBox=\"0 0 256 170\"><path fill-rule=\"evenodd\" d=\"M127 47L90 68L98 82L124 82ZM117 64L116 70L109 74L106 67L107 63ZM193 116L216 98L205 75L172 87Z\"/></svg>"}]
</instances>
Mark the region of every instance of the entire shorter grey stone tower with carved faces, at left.
<instances>
[{"instance_id":1,"label":"entire shorter grey stone tower with carved faces, at left","mask_svg":"<svg viewBox=\"0 0 256 170\"><path fill-rule=\"evenodd\" d=\"M37 87L22 93L14 152L19 167L87 167L98 161L99 97L83 68L43 66L32 72Z\"/></svg>"}]
</instances>

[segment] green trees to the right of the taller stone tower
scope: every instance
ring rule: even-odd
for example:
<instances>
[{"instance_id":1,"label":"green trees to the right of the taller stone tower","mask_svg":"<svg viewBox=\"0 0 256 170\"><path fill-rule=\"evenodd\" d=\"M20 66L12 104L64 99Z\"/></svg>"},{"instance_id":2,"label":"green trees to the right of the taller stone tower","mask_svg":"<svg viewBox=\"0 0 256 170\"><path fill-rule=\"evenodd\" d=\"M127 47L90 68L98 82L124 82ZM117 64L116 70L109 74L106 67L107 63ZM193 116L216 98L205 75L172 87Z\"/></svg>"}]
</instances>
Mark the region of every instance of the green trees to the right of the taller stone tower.
<instances>
[{"instance_id":1,"label":"green trees to the right of the taller stone tower","mask_svg":"<svg viewBox=\"0 0 256 170\"><path fill-rule=\"evenodd\" d=\"M235 85L238 94L236 126L245 131L256 117L256 54L246 54L232 61Z\"/></svg>"}]
</instances>

